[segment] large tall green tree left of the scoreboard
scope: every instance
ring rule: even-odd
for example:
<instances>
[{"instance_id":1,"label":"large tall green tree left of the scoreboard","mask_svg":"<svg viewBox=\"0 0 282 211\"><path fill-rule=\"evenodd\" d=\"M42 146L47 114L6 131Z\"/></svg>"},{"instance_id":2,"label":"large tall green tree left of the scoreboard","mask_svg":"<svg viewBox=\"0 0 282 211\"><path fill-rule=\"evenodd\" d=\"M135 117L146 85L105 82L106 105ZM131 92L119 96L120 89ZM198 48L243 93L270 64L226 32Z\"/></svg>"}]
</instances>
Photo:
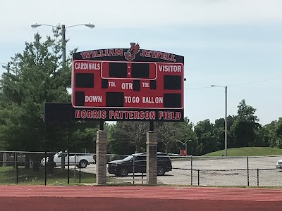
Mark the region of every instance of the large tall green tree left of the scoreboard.
<instances>
[{"instance_id":1,"label":"large tall green tree left of the scoreboard","mask_svg":"<svg viewBox=\"0 0 282 211\"><path fill-rule=\"evenodd\" d=\"M59 29L54 30L59 37ZM1 77L1 140L10 150L38 151L44 146L43 102L68 102L71 71L62 68L56 39L35 34L23 53L12 58ZM68 75L68 77L66 77Z\"/></svg>"}]
</instances>

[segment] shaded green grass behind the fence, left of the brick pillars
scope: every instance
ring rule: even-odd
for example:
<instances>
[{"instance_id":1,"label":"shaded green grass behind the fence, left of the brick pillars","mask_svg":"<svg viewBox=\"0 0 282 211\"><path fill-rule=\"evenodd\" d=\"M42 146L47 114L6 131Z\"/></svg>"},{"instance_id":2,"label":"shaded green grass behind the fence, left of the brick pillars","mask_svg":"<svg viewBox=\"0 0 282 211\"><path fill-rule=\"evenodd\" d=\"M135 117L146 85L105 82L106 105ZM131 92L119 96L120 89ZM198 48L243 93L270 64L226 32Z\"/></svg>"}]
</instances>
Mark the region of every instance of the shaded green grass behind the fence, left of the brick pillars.
<instances>
[{"instance_id":1,"label":"shaded green grass behind the fence, left of the brick pillars","mask_svg":"<svg viewBox=\"0 0 282 211\"><path fill-rule=\"evenodd\" d=\"M35 172L30 167L18 167L18 184L44 184L45 172L44 167L40 167L39 171ZM79 184L79 172L70 170L70 184ZM95 174L87 172L80 172L81 184L94 184L96 182ZM0 167L0 184L15 184L16 183L16 170L13 167ZM47 174L48 185L67 185L68 184L68 170L55 168L53 173Z\"/></svg>"}]
</instances>

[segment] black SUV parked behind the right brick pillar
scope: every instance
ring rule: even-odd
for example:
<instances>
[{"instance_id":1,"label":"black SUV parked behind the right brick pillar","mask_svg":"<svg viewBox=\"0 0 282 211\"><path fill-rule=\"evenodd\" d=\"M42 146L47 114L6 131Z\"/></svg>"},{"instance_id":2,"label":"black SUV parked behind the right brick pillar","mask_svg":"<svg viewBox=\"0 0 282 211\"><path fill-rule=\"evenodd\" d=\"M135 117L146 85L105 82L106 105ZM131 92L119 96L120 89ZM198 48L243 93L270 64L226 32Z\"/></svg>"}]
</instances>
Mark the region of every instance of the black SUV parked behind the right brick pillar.
<instances>
[{"instance_id":1,"label":"black SUV parked behind the right brick pillar","mask_svg":"<svg viewBox=\"0 0 282 211\"><path fill-rule=\"evenodd\" d=\"M128 173L146 173L147 154L136 153L123 158L123 160L113 160L108 162L109 174L125 177ZM164 175L172 170L171 158L166 153L157 153L157 174Z\"/></svg>"}]
</instances>

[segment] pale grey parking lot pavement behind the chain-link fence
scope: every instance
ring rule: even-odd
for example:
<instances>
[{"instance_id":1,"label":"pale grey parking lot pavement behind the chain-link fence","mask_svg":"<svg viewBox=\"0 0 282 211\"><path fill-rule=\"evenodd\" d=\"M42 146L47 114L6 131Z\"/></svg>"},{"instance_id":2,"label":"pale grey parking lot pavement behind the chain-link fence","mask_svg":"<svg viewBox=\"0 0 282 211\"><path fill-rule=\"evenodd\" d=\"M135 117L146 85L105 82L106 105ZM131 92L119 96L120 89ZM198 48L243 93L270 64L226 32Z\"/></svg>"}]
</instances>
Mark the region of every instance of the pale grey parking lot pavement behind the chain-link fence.
<instances>
[{"instance_id":1,"label":"pale grey parking lot pavement behind the chain-link fence","mask_svg":"<svg viewBox=\"0 0 282 211\"><path fill-rule=\"evenodd\" d=\"M192 158L191 160L173 160L173 170L164 176L157 177L158 184L195 185L200 186L282 186L282 172L274 170L281 156L250 157L249 171L247 158ZM272 170L257 170L272 169ZM84 172L96 173L96 165L89 165ZM141 174L129 174L128 177L116 177L107 173L112 182L131 182L145 184L147 177Z\"/></svg>"}]
</instances>

